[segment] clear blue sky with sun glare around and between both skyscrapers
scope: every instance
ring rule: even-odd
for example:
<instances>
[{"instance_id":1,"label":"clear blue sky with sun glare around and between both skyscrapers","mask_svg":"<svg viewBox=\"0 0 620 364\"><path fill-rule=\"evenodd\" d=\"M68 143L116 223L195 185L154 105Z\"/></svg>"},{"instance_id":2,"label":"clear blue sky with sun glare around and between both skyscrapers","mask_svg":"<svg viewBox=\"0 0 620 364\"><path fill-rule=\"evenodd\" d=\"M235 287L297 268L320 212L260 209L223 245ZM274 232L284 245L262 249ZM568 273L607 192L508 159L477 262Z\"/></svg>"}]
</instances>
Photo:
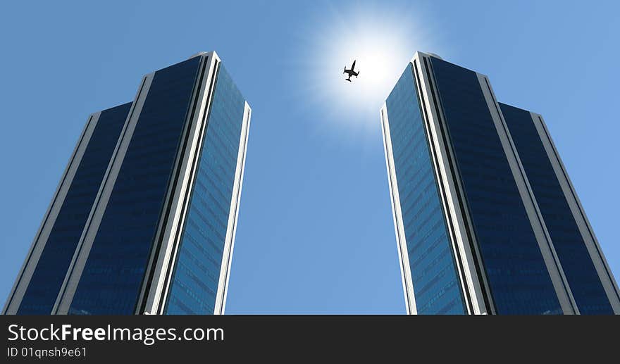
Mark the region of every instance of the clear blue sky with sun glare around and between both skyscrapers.
<instances>
[{"instance_id":1,"label":"clear blue sky with sun glare around and between both skyscrapers","mask_svg":"<svg viewBox=\"0 0 620 364\"><path fill-rule=\"evenodd\" d=\"M616 1L5 2L0 299L87 115L211 50L253 109L227 313L404 313L378 108L418 50L543 114L620 277L619 38Z\"/></svg>"}]
</instances>

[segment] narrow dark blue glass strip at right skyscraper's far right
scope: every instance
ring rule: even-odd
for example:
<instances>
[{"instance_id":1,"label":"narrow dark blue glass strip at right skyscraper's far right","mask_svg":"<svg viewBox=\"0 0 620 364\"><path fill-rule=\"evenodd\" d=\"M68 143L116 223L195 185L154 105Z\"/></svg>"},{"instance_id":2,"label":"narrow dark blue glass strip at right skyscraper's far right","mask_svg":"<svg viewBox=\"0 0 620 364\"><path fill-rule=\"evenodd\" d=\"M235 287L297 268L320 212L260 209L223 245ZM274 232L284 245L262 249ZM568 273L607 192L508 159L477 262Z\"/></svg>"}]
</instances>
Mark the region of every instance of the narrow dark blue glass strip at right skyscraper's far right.
<instances>
[{"instance_id":1,"label":"narrow dark blue glass strip at right skyscraper's far right","mask_svg":"<svg viewBox=\"0 0 620 364\"><path fill-rule=\"evenodd\" d=\"M612 306L530 112L504 103L500 103L500 107L579 312L613 315Z\"/></svg>"}]
</instances>

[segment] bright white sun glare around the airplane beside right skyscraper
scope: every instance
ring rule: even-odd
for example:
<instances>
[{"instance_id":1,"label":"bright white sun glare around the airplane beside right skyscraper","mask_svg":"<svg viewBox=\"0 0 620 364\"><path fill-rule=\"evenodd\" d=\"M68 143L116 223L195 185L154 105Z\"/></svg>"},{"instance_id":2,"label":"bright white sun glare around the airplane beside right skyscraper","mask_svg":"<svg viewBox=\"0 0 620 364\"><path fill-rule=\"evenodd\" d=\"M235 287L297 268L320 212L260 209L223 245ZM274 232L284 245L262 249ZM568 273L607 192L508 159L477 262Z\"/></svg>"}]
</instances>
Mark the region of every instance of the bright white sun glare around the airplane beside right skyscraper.
<instances>
[{"instance_id":1,"label":"bright white sun glare around the airplane beside right skyscraper","mask_svg":"<svg viewBox=\"0 0 620 364\"><path fill-rule=\"evenodd\" d=\"M311 27L308 47L301 51L302 59L310 60L304 65L304 99L348 130L377 130L379 108L407 62L416 51L433 51L417 24L407 12L333 9ZM343 71L353 61L359 76L346 82Z\"/></svg>"}]
</instances>

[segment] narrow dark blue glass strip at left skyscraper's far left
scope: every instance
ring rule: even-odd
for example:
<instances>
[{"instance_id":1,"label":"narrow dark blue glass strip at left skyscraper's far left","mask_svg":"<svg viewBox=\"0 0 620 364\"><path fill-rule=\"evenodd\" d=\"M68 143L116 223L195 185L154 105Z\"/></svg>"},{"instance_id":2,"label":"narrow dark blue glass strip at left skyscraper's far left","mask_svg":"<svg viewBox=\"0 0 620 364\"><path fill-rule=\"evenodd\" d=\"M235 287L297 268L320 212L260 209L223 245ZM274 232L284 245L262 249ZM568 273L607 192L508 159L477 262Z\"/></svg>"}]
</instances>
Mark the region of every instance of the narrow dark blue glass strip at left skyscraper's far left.
<instances>
[{"instance_id":1,"label":"narrow dark blue glass strip at left skyscraper's far left","mask_svg":"<svg viewBox=\"0 0 620 364\"><path fill-rule=\"evenodd\" d=\"M131 103L125 103L101 111L25 291L19 315L51 313L130 107Z\"/></svg>"}]
</instances>

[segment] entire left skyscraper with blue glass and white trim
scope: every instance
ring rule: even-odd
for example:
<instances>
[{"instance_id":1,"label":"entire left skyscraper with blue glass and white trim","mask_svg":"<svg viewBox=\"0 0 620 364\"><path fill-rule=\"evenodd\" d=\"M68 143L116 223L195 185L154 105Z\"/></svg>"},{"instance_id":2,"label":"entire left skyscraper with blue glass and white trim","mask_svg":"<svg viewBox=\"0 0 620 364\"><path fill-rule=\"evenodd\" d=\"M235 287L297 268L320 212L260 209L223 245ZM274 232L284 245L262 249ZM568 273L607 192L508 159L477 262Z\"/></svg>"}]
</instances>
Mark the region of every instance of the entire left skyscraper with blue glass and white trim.
<instances>
[{"instance_id":1,"label":"entire left skyscraper with blue glass and white trim","mask_svg":"<svg viewBox=\"0 0 620 364\"><path fill-rule=\"evenodd\" d=\"M91 115L4 313L223 313L250 114L201 52Z\"/></svg>"}]
</instances>

